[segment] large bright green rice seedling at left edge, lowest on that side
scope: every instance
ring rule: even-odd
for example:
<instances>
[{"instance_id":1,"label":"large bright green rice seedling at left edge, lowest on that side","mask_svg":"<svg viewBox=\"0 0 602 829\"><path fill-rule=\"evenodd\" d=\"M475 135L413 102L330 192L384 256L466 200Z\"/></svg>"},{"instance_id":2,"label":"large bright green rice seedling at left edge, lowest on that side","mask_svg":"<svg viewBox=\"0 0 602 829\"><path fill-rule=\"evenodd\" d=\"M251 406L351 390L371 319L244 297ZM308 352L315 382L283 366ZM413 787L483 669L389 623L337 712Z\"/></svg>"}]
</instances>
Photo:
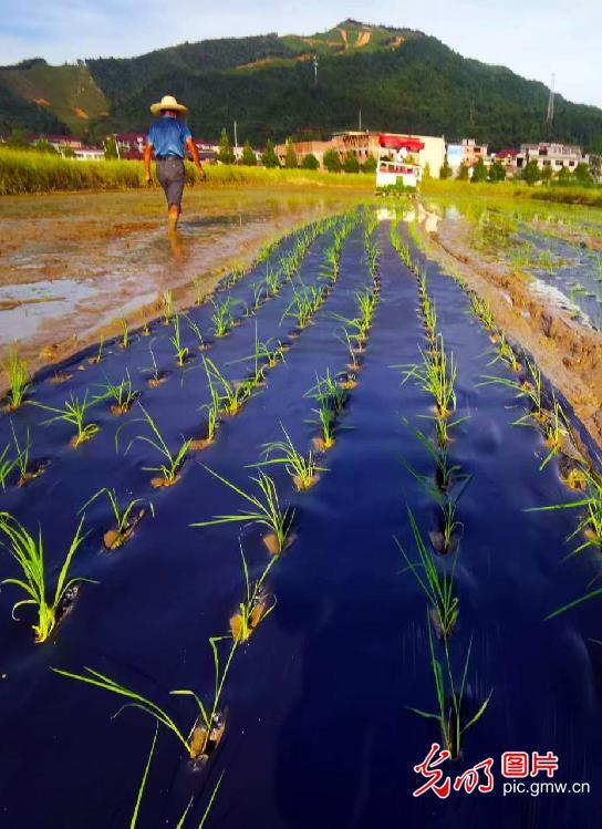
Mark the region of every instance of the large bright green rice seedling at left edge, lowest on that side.
<instances>
[{"instance_id":1,"label":"large bright green rice seedling at left edge, lowest on that side","mask_svg":"<svg viewBox=\"0 0 602 829\"><path fill-rule=\"evenodd\" d=\"M0 512L0 532L7 539L3 547L10 552L22 570L21 578L4 579L2 584L14 584L22 590L27 598L15 602L12 607L12 618L18 608L25 604L32 604L38 614L37 623L32 624L35 634L35 642L45 642L54 630L68 608L65 602L73 595L75 587L84 581L91 582L91 579L76 577L68 579L71 560L77 551L77 548L84 540L82 527L85 516L77 526L75 536L71 541L68 553L59 572L59 579L54 588L52 600L46 597L48 583L44 572L44 551L42 542L42 530L39 529L38 538L30 536L25 527L20 524L13 516L8 512Z\"/></svg>"}]
</instances>

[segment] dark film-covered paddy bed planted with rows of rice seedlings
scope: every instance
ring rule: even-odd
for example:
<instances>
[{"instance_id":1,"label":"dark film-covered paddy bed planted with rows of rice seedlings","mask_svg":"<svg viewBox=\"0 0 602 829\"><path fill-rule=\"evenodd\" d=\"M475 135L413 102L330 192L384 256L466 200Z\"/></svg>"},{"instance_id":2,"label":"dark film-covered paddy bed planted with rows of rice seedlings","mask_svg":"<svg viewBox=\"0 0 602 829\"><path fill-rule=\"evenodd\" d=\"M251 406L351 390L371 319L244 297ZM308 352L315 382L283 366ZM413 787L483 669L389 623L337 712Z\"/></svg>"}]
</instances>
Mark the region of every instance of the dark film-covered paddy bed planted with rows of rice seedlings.
<instances>
[{"instance_id":1,"label":"dark film-covered paddy bed planted with rows of rice seedlings","mask_svg":"<svg viewBox=\"0 0 602 829\"><path fill-rule=\"evenodd\" d=\"M413 211L310 221L33 375L11 352L2 826L600 826L598 447Z\"/></svg>"}]
</instances>

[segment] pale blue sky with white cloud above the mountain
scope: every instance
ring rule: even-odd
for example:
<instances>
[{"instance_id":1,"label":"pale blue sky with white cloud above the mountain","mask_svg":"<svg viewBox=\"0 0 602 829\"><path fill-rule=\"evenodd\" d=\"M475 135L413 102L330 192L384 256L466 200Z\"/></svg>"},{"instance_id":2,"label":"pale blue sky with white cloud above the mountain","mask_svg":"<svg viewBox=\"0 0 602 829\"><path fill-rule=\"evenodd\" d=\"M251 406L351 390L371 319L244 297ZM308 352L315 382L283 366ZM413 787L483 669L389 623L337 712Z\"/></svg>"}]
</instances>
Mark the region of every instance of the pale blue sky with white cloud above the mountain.
<instances>
[{"instance_id":1,"label":"pale blue sky with white cloud above the mountain","mask_svg":"<svg viewBox=\"0 0 602 829\"><path fill-rule=\"evenodd\" d=\"M602 106L601 0L0 0L0 63L131 56L183 41L311 34L345 18L408 27L509 66L577 103Z\"/></svg>"}]
</instances>

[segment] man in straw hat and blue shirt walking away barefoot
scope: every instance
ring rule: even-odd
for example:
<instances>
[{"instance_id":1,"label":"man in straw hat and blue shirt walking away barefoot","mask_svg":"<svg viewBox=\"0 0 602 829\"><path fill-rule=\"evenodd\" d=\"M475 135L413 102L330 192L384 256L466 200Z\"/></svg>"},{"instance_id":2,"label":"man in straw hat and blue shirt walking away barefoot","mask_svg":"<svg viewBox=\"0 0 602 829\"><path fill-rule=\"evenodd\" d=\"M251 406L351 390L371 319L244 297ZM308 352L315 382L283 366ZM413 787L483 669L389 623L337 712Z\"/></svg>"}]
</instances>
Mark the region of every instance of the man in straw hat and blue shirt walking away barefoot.
<instances>
[{"instance_id":1,"label":"man in straw hat and blue shirt walking away barefoot","mask_svg":"<svg viewBox=\"0 0 602 829\"><path fill-rule=\"evenodd\" d=\"M157 159L157 178L167 199L169 230L175 230L181 213L185 149L190 151L201 178L205 178L205 172L200 166L193 134L184 121L188 107L178 104L173 95L164 95L158 104L150 106L150 112L159 117L153 122L148 131L144 148L144 174L146 184L150 184L150 158L154 151Z\"/></svg>"}]
</instances>

